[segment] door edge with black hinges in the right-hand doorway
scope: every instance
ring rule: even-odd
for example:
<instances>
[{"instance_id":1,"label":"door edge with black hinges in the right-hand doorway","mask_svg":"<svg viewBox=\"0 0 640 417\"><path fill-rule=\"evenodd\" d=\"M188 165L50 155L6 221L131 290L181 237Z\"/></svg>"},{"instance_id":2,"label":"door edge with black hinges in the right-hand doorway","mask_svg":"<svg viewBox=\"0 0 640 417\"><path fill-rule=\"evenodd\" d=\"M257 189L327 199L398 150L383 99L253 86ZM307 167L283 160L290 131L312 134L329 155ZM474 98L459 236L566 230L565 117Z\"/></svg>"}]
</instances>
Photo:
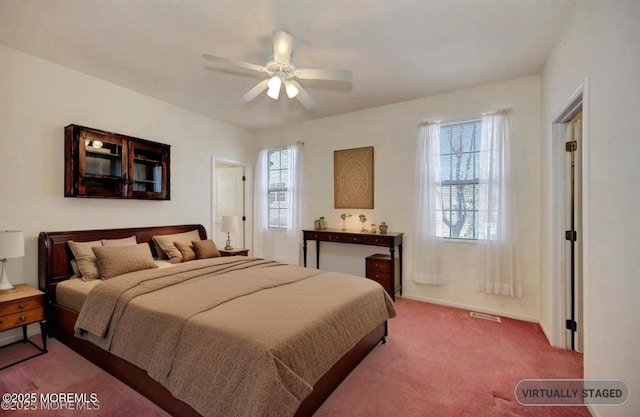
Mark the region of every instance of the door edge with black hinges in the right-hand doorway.
<instances>
[{"instance_id":1,"label":"door edge with black hinges in the right-hand doorway","mask_svg":"<svg viewBox=\"0 0 640 417\"><path fill-rule=\"evenodd\" d=\"M565 126L565 345L582 352L582 112Z\"/></svg>"}]
</instances>

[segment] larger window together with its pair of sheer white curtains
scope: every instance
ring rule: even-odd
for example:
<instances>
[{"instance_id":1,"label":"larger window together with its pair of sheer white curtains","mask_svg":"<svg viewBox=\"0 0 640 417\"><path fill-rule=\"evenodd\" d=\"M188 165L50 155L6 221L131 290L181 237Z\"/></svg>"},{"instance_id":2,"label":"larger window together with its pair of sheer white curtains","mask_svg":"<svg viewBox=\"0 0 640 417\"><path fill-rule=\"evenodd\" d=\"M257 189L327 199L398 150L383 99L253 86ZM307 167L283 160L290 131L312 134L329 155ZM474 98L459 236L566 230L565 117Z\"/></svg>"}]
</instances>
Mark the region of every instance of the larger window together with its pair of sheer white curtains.
<instances>
[{"instance_id":1,"label":"larger window together with its pair of sheer white curtains","mask_svg":"<svg viewBox=\"0 0 640 417\"><path fill-rule=\"evenodd\" d=\"M514 268L515 201L509 110L480 120L426 123L416 148L412 279L439 285L450 274L445 239L481 241L476 289L520 297Z\"/></svg>"}]
</instances>

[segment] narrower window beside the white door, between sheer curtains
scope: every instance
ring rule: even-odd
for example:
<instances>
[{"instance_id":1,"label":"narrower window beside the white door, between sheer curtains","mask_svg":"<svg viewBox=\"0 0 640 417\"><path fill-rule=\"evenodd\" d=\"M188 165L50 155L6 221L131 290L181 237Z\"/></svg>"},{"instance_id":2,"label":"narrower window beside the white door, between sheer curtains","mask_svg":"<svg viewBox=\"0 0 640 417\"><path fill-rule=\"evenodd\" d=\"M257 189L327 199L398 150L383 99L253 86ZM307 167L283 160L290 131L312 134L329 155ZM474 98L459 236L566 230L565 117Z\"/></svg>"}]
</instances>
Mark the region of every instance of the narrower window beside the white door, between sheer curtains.
<instances>
[{"instance_id":1,"label":"narrower window beside the white door, between sheer curtains","mask_svg":"<svg viewBox=\"0 0 640 417\"><path fill-rule=\"evenodd\" d=\"M289 157L288 148L268 151L267 194L269 199L269 229L288 228L289 193Z\"/></svg>"}]
</instances>

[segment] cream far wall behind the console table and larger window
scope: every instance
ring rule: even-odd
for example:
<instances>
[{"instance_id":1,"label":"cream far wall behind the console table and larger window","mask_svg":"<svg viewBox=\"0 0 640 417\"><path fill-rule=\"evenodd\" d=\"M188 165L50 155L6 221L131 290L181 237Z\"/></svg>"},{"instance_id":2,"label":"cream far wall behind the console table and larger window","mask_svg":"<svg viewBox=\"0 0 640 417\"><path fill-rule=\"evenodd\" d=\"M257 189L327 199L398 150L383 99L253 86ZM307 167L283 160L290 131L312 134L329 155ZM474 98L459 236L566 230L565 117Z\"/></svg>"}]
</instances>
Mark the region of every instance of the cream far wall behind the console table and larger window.
<instances>
[{"instance_id":1,"label":"cream far wall behind the console table and larger window","mask_svg":"<svg viewBox=\"0 0 640 417\"><path fill-rule=\"evenodd\" d=\"M413 259L414 163L418 125L424 121L452 121L477 117L499 109L513 109L513 151L520 222L518 267L524 277L524 297L488 296L474 290L474 243L449 243L445 256L451 278L441 287L411 281ZM390 232L404 232L405 296L451 305L473 306L514 317L537 320L539 311L541 138L540 80L528 77L450 94L379 107L256 133L262 147L304 141L305 204L303 224L325 216L330 228L340 228L340 214L351 213L347 228L360 230L357 215L370 223L386 221ZM374 146L374 209L336 210L333 205L333 151ZM315 266L314 243L309 243L309 265ZM364 258L388 253L372 246L322 243L320 266L364 276Z\"/></svg>"}]
</instances>

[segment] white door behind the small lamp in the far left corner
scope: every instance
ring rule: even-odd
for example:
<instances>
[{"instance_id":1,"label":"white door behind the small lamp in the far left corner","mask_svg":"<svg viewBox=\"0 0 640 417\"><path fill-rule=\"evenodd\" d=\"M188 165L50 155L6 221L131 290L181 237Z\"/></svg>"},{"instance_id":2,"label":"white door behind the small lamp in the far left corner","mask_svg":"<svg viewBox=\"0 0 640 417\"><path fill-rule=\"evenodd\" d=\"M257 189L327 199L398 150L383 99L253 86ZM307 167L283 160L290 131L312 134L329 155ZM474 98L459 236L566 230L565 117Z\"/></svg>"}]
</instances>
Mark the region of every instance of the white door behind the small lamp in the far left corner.
<instances>
[{"instance_id":1,"label":"white door behind the small lamp in the far left corner","mask_svg":"<svg viewBox=\"0 0 640 417\"><path fill-rule=\"evenodd\" d=\"M231 246L234 248L245 247L245 230L243 221L245 215L244 194L244 168L218 167L216 166L216 233L215 242L219 249L225 247L227 233L221 231L223 216L236 216L238 218L238 232L231 233Z\"/></svg>"}]
</instances>

